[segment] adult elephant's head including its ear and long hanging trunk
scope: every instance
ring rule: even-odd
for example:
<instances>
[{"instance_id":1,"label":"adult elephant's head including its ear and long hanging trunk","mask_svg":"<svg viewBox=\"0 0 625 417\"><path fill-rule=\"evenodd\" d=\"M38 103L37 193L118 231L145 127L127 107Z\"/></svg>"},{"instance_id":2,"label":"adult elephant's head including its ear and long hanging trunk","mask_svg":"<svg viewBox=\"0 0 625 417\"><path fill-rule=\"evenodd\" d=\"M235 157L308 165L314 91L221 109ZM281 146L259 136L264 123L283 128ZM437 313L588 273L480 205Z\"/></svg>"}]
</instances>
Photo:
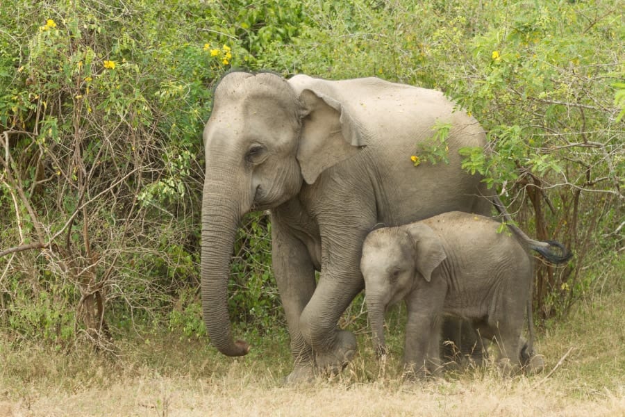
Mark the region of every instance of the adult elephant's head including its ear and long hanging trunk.
<instances>
[{"instance_id":1,"label":"adult elephant's head including its ear and long hanging trunk","mask_svg":"<svg viewBox=\"0 0 625 417\"><path fill-rule=\"evenodd\" d=\"M201 288L208 335L228 356L249 351L244 341L233 341L226 297L242 215L287 202L304 182L314 183L365 145L340 101L308 88L306 79L296 86L275 74L231 72L215 89L203 132Z\"/></svg>"}]
</instances>

